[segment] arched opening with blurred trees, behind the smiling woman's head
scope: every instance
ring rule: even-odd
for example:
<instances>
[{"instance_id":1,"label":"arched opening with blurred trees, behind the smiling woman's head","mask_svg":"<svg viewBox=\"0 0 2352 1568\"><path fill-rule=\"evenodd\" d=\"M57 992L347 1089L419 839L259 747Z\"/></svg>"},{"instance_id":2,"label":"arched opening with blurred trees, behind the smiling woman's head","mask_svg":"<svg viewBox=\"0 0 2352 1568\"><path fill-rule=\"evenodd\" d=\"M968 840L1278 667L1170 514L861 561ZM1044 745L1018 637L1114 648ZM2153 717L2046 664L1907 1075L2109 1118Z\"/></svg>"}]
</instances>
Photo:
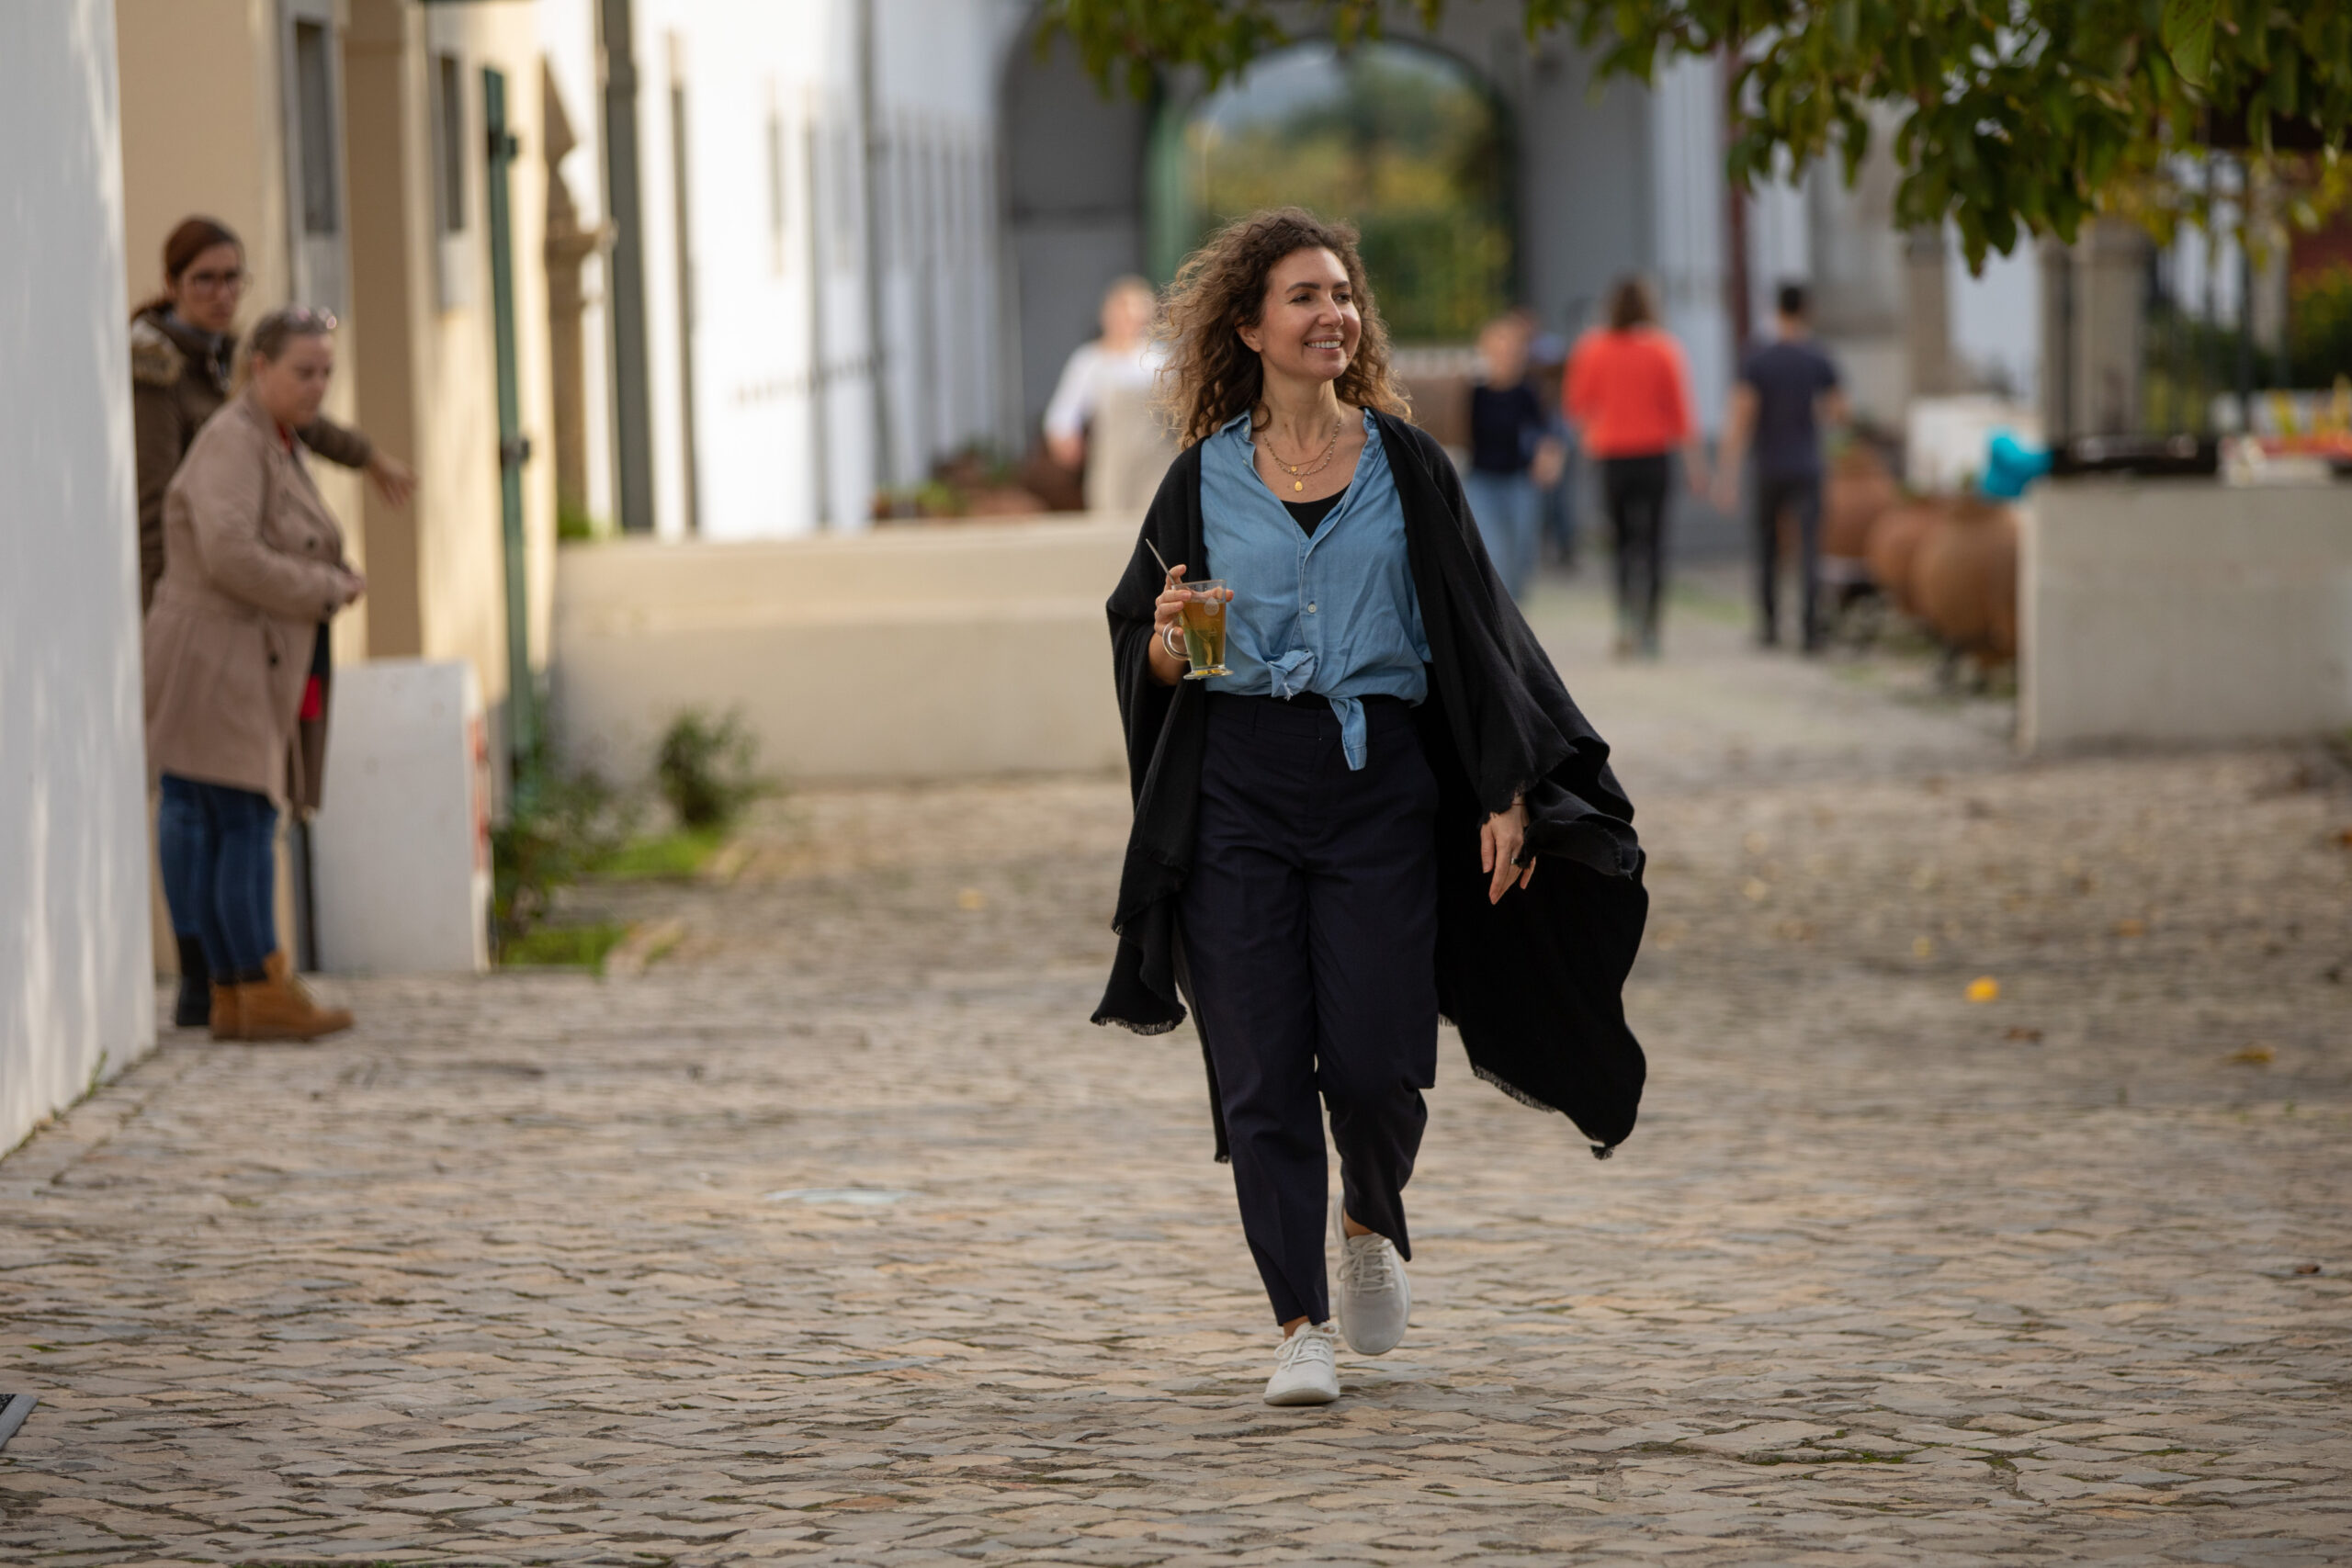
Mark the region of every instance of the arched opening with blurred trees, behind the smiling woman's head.
<instances>
[{"instance_id":1,"label":"arched opening with blurred trees, behind the smiling woman's head","mask_svg":"<svg viewBox=\"0 0 2352 1568\"><path fill-rule=\"evenodd\" d=\"M1218 223L1298 205L1362 230L1399 343L1465 343L1517 303L1510 115L1442 49L1301 42L1164 101L1148 186L1160 282Z\"/></svg>"}]
</instances>

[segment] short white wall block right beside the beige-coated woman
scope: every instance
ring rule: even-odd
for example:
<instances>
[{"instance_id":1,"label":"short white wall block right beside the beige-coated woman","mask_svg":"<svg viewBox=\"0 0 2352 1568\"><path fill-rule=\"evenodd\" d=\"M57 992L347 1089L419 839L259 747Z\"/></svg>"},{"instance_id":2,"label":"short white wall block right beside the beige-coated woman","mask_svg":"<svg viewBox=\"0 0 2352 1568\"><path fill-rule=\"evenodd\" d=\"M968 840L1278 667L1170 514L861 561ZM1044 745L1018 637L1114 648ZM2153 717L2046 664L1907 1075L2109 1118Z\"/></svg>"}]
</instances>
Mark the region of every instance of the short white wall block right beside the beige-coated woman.
<instances>
[{"instance_id":1,"label":"short white wall block right beside the beige-coated woman","mask_svg":"<svg viewBox=\"0 0 2352 1568\"><path fill-rule=\"evenodd\" d=\"M489 969L489 750L470 663L376 658L334 672L310 853L320 969Z\"/></svg>"}]
</instances>

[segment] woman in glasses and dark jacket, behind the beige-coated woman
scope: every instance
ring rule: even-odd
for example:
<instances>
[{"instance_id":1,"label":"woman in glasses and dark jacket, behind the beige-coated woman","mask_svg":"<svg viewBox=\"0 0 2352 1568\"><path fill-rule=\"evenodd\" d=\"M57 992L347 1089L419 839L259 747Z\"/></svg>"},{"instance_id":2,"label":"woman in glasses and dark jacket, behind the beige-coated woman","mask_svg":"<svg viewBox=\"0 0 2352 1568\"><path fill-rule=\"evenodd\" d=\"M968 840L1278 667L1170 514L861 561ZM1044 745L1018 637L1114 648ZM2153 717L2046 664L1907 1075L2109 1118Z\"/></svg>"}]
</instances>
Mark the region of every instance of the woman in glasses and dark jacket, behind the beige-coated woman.
<instances>
[{"instance_id":1,"label":"woman in glasses and dark jacket, behind the beige-coated woman","mask_svg":"<svg viewBox=\"0 0 2352 1568\"><path fill-rule=\"evenodd\" d=\"M238 306L245 301L245 244L214 219L183 219L162 242L165 292L132 313L132 433L139 463L139 609L155 602L165 567L162 498L188 456L195 433L230 397L228 371L238 355ZM296 430L303 447L360 468L393 505L407 505L416 477L376 451L358 430L313 416ZM329 686L320 639L320 691ZM313 764L325 755L325 712L310 722ZM315 799L308 804L318 804ZM212 1013L212 973L193 912L172 912L179 936L179 1004L172 1023L205 1027Z\"/></svg>"}]
</instances>

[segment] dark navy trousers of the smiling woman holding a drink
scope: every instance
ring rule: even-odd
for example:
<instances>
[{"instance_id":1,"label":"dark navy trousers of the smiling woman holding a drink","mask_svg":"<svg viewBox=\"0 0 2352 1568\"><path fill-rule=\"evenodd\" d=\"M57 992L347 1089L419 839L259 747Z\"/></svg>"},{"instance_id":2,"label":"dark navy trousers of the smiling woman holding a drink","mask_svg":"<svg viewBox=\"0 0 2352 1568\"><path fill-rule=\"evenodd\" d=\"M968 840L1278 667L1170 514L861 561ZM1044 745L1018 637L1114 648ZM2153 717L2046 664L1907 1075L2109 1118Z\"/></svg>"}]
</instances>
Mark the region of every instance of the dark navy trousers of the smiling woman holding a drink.
<instances>
[{"instance_id":1,"label":"dark navy trousers of the smiling woman holding a drink","mask_svg":"<svg viewBox=\"0 0 2352 1568\"><path fill-rule=\"evenodd\" d=\"M1242 1234L1275 1321L1331 1316L1331 1110L1348 1213L1411 1258L1404 1182L1437 1081L1437 778L1411 708L1209 696L1183 947L1216 1065Z\"/></svg>"}]
</instances>

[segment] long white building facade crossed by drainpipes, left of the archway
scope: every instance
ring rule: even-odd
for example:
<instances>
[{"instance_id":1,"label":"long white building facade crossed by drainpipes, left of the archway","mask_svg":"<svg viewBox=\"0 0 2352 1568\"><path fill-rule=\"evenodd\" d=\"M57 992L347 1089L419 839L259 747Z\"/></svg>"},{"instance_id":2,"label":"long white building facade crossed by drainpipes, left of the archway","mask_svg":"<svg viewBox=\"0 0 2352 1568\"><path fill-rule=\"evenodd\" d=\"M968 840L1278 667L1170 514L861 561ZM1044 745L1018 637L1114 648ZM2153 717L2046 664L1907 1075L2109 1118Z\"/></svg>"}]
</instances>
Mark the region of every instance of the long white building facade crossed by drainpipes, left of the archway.
<instances>
[{"instance_id":1,"label":"long white building facade crossed by drainpipes, left of the archway","mask_svg":"<svg viewBox=\"0 0 2352 1568\"><path fill-rule=\"evenodd\" d=\"M858 49L868 2L873 160ZM858 531L880 487L910 484L934 458L995 433L1000 9L993 0L637 0L659 536ZM541 9L550 66L588 143L567 169L579 174L574 190L600 167L593 12L593 0ZM684 89L684 247L673 85Z\"/></svg>"}]
</instances>

